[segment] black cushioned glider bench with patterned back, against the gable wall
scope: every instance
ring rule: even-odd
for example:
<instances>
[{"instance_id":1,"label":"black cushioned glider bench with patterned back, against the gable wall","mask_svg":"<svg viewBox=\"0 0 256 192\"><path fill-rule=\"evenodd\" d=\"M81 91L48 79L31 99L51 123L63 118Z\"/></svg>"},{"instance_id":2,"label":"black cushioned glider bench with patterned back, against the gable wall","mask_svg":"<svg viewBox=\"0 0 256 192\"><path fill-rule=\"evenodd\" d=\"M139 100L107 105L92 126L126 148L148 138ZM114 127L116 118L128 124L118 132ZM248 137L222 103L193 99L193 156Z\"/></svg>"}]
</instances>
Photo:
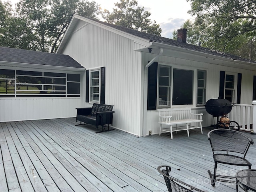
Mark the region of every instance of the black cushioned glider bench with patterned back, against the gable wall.
<instances>
[{"instance_id":1,"label":"black cushioned glider bench with patterned back, against the gable wall","mask_svg":"<svg viewBox=\"0 0 256 192\"><path fill-rule=\"evenodd\" d=\"M84 122L84 124L91 124L96 126L96 128L98 128L99 125L102 126L102 130L96 133L114 130L109 129L110 124L113 126L113 107L113 105L94 103L92 107L89 108L76 108L76 122L80 121L78 125L82 125L82 122ZM108 129L105 130L105 127L108 127Z\"/></svg>"}]
</instances>

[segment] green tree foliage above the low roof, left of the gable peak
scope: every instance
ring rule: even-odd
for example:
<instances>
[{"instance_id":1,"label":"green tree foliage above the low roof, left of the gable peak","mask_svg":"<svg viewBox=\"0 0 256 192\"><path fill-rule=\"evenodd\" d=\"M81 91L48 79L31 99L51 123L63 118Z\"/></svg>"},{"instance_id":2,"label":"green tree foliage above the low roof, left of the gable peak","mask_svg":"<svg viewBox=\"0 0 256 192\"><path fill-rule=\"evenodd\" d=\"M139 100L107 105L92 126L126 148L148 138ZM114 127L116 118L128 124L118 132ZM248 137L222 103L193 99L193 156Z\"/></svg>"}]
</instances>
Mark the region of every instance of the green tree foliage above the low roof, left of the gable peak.
<instances>
[{"instance_id":1,"label":"green tree foliage above the low roof, left of the gable peak","mask_svg":"<svg viewBox=\"0 0 256 192\"><path fill-rule=\"evenodd\" d=\"M100 7L86 0L20 0L15 12L0 0L0 46L55 52L73 14L96 18Z\"/></svg>"}]
</instances>

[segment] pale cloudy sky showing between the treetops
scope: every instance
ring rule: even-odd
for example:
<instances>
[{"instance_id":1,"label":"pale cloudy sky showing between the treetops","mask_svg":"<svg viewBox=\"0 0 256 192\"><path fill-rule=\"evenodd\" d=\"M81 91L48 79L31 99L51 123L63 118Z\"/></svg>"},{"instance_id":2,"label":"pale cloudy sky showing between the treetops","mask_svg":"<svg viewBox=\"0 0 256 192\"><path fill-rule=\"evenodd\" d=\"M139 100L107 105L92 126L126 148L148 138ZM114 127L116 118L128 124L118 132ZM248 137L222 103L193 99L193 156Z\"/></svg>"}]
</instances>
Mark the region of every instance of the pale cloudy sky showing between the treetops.
<instances>
[{"instance_id":1,"label":"pale cloudy sky showing between the treetops","mask_svg":"<svg viewBox=\"0 0 256 192\"><path fill-rule=\"evenodd\" d=\"M19 2L19 0L9 1L13 5ZM120 0L94 1L100 5L102 10L107 9L110 12L114 8L114 3L120 2ZM186 0L137 0L137 2L139 7L144 7L145 11L151 13L150 19L160 25L161 36L166 38L171 38L173 30L178 30L186 20L193 20L193 17L187 13L190 10L190 2Z\"/></svg>"}]
</instances>

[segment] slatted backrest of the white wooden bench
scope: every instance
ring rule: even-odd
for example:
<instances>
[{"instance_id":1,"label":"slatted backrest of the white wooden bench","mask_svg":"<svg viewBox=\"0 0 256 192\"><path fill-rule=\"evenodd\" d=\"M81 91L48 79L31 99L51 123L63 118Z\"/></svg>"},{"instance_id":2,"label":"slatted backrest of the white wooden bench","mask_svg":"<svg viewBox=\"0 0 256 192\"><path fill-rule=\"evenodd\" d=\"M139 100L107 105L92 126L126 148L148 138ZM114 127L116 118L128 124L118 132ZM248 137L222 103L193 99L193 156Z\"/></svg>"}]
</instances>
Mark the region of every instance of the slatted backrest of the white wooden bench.
<instances>
[{"instance_id":1,"label":"slatted backrest of the white wooden bench","mask_svg":"<svg viewBox=\"0 0 256 192\"><path fill-rule=\"evenodd\" d=\"M159 119L160 116L172 116L171 120L191 119L191 108L158 109L158 112Z\"/></svg>"}]
</instances>

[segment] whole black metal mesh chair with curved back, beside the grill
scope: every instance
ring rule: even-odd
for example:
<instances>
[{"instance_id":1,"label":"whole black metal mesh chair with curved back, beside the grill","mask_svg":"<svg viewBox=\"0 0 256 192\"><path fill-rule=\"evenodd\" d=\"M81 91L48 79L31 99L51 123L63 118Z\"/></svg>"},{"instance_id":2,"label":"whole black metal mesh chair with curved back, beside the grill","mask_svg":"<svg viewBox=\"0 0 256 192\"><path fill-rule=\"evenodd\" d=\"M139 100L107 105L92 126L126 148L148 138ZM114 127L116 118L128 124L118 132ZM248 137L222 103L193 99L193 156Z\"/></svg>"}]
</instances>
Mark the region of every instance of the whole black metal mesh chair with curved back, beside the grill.
<instances>
[{"instance_id":1,"label":"whole black metal mesh chair with curved back, beside the grill","mask_svg":"<svg viewBox=\"0 0 256 192\"><path fill-rule=\"evenodd\" d=\"M212 147L215 163L213 176L208 170L212 186L215 185L216 180L230 182L230 179L235 178L234 176L217 175L218 163L251 168L252 164L246 160L245 156L250 145L253 144L253 140L246 134L230 129L214 129L208 132L208 140ZM216 179L216 177L218 178ZM229 180L221 178L229 178Z\"/></svg>"}]
</instances>

